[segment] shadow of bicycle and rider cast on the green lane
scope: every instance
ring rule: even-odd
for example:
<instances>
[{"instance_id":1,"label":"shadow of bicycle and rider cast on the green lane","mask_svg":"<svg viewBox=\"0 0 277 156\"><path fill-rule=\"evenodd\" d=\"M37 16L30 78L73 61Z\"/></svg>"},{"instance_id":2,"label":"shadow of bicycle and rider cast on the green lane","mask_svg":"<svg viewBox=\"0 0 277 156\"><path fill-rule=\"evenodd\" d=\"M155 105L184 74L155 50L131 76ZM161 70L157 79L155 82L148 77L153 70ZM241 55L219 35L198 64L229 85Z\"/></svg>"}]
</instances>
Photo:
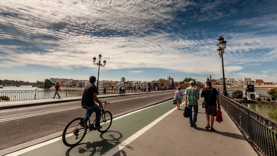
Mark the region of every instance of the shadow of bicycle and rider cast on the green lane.
<instances>
[{"instance_id":1,"label":"shadow of bicycle and rider cast on the green lane","mask_svg":"<svg viewBox=\"0 0 277 156\"><path fill-rule=\"evenodd\" d=\"M104 154L117 144L124 144L120 142L122 138L122 134L117 131L107 131L105 133L100 134L101 141L95 142L86 142L78 144L74 147L70 147L66 151L66 156L69 155L94 155L98 153L99 155ZM126 146L127 147L127 146ZM132 147L128 147L132 149Z\"/></svg>"}]
</instances>

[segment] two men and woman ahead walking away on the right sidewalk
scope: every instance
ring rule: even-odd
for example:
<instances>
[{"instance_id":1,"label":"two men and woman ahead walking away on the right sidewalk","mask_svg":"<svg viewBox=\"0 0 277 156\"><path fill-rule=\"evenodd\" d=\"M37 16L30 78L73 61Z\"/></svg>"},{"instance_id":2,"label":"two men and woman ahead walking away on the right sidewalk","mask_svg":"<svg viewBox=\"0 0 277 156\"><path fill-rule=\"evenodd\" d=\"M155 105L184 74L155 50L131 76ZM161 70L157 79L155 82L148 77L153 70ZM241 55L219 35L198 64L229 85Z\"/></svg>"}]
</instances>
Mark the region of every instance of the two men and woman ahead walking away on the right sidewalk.
<instances>
[{"instance_id":1,"label":"two men and woman ahead walking away on the right sidewalk","mask_svg":"<svg viewBox=\"0 0 277 156\"><path fill-rule=\"evenodd\" d=\"M190 81L189 84L190 86L186 88L186 91L184 92L185 104L186 106L188 106L188 109L189 109L189 126L197 127L196 122L197 122L197 115L198 115L198 100L199 100L200 88L198 86L194 87L194 81ZM181 88L178 87L178 90L175 92L175 96L177 100L177 109L180 108L180 104L182 103L182 99L184 95L181 91ZM217 92L217 90L212 88L212 83L210 81L206 81L205 88L202 90L202 93L200 96L201 98L204 98L204 101L207 102L207 106L205 107L207 125L205 128L206 129L211 128L211 131L215 131L213 127L214 117L217 114L217 109L221 109L218 95L219 93ZM192 109L194 111L194 114L192 112ZM210 124L210 121L211 121L211 124Z\"/></svg>"}]
</instances>

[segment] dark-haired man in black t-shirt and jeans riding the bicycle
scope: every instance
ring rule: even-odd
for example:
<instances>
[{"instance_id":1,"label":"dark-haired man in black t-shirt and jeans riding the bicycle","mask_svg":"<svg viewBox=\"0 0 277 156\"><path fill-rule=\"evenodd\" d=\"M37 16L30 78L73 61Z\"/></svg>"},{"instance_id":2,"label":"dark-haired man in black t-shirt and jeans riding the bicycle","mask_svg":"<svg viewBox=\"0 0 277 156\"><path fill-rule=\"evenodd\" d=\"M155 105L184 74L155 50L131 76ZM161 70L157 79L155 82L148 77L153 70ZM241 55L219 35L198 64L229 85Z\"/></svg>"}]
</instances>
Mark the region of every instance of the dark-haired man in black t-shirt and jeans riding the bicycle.
<instances>
[{"instance_id":1,"label":"dark-haired man in black t-shirt and jeans riding the bicycle","mask_svg":"<svg viewBox=\"0 0 277 156\"><path fill-rule=\"evenodd\" d=\"M95 129L100 129L102 128L100 126L100 116L101 116L101 109L102 103L99 101L97 98L97 88L94 85L96 81L95 76L90 76L89 77L89 84L87 84L84 88L82 99L81 99L81 105L82 107L86 107L89 111L95 112L96 113L96 120L95 120ZM95 102L99 103L99 107ZM91 116L92 112L89 113L89 117ZM88 119L86 119L85 122L87 122Z\"/></svg>"}]
</instances>

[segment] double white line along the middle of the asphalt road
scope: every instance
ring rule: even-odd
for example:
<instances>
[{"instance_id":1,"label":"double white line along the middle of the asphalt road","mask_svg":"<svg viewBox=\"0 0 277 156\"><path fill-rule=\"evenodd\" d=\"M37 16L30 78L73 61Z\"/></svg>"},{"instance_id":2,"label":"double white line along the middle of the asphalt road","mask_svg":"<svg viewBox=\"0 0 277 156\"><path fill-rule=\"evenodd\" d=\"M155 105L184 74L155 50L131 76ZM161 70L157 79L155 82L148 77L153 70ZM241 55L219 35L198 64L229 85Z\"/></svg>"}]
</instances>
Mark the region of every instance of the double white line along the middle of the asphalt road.
<instances>
[{"instance_id":1,"label":"double white line along the middle of the asphalt road","mask_svg":"<svg viewBox=\"0 0 277 156\"><path fill-rule=\"evenodd\" d=\"M166 94L171 94L171 93L166 93ZM166 95L166 94L160 94L160 95ZM143 96L143 97L131 98L131 99L123 99L123 100L118 100L118 101L112 101L110 103L120 102L120 101L127 101L127 100L133 100L133 99L140 99L140 98L147 98L147 97L152 97L152 96L157 96L157 95ZM39 116L39 115L50 114L50 113L55 113L55 112L68 111L68 110L77 109L77 108L82 108L82 107L79 106L79 107L73 107L73 108L59 109L59 110L56 110L56 111L42 112L42 113L37 113L37 114L30 114L30 115L24 115L24 116L19 116L19 117L12 117L12 118L7 118L7 119L1 119L0 122L11 121L11 120L16 120L16 119L22 119L22 118L32 117L32 116Z\"/></svg>"}]
</instances>

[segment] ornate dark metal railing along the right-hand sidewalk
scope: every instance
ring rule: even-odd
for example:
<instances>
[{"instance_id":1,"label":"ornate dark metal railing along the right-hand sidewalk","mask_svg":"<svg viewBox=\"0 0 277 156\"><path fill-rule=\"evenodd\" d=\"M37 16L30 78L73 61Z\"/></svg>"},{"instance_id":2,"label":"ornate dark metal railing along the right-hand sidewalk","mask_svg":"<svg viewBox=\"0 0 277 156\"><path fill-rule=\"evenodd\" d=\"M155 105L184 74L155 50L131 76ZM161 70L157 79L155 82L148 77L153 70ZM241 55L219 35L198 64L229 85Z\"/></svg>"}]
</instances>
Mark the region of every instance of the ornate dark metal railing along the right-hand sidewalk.
<instances>
[{"instance_id":1,"label":"ornate dark metal railing along the right-hand sidewalk","mask_svg":"<svg viewBox=\"0 0 277 156\"><path fill-rule=\"evenodd\" d=\"M277 155L277 121L219 94L221 105L263 155Z\"/></svg>"}]
</instances>

